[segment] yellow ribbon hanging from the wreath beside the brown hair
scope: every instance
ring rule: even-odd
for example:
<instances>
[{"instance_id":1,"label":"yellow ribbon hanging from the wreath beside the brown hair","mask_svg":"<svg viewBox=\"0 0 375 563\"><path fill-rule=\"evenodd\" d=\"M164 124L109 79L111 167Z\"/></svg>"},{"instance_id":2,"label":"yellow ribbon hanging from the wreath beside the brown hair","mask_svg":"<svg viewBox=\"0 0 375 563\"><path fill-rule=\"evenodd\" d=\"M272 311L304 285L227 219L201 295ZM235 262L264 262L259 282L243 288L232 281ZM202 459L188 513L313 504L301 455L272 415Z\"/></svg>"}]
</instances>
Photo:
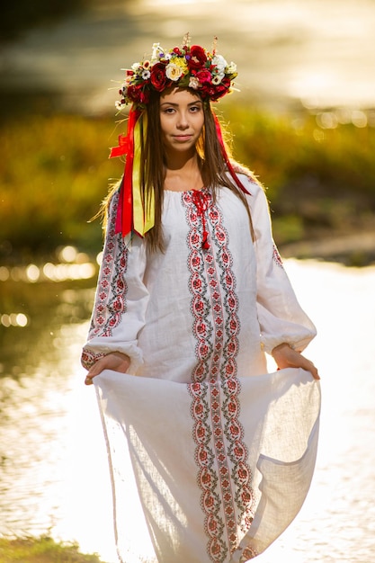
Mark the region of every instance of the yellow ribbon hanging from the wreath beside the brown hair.
<instances>
[{"instance_id":1,"label":"yellow ribbon hanging from the wreath beside the brown hair","mask_svg":"<svg viewBox=\"0 0 375 563\"><path fill-rule=\"evenodd\" d=\"M155 224L155 197L151 192L149 201L142 201L140 191L140 128L142 122L143 132L146 136L147 113L144 112L141 119L138 119L134 127L134 157L132 173L132 192L133 192L133 226L134 230L144 237L145 233Z\"/></svg>"}]
</instances>

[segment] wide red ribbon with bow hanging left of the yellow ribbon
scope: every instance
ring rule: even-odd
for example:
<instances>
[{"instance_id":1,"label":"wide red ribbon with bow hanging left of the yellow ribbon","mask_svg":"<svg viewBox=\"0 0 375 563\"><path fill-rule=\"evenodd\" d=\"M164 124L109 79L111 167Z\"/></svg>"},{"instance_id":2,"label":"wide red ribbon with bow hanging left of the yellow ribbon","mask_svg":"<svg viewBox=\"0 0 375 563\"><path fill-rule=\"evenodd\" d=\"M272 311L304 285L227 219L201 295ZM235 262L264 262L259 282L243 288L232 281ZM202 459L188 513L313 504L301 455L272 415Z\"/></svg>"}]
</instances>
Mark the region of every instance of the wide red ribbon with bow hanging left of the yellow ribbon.
<instances>
[{"instance_id":1,"label":"wide red ribbon with bow hanging left of the yellow ribbon","mask_svg":"<svg viewBox=\"0 0 375 563\"><path fill-rule=\"evenodd\" d=\"M124 175L122 178L119 207L117 208L116 233L126 237L133 228L133 159L134 159L134 127L138 121L139 110L133 107L129 111L128 134L119 136L119 146L112 147L110 158L126 155Z\"/></svg>"}]
</instances>

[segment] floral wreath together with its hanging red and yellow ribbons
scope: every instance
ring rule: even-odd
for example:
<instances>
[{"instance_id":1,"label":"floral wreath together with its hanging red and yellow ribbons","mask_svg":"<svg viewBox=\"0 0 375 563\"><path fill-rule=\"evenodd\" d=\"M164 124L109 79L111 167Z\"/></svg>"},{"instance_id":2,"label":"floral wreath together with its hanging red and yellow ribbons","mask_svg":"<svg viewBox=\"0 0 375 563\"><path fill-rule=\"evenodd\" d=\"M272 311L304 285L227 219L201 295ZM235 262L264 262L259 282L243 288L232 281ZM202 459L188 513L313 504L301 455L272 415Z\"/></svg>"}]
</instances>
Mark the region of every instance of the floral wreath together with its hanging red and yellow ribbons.
<instances>
[{"instance_id":1,"label":"floral wreath together with its hanging red and yellow ribbons","mask_svg":"<svg viewBox=\"0 0 375 563\"><path fill-rule=\"evenodd\" d=\"M212 52L199 45L190 46L189 33L183 38L183 47L174 47L165 51L159 43L154 43L151 58L134 63L126 70L126 77L121 86L121 100L116 102L120 112L128 103L131 104L128 118L127 135L119 136L119 146L112 147L110 158L126 155L125 171L122 177L120 200L116 216L116 233L128 237L137 233L144 237L155 224L155 201L151 195L145 206L139 178L140 174L140 138L141 125L147 131L147 103L152 92L163 92L166 88L177 86L192 88L201 95L202 100L216 102L233 89L237 76L235 63L228 62L216 52L216 41ZM142 117L142 120L139 118ZM237 186L245 193L246 188L237 178L230 163L218 118L213 113L222 156ZM144 134L144 133L143 133Z\"/></svg>"}]
</instances>

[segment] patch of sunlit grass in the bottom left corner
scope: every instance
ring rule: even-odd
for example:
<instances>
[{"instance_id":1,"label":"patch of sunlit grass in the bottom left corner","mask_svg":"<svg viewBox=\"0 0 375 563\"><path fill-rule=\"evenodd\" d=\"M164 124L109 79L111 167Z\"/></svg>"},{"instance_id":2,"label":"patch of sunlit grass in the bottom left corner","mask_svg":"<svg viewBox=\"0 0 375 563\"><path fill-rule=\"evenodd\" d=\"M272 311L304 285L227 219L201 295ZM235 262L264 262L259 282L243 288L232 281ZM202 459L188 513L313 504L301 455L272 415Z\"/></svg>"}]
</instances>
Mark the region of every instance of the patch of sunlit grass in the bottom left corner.
<instances>
[{"instance_id":1,"label":"patch of sunlit grass in the bottom left corner","mask_svg":"<svg viewBox=\"0 0 375 563\"><path fill-rule=\"evenodd\" d=\"M97 555L80 553L75 543L40 538L0 538L0 563L103 563Z\"/></svg>"}]
</instances>

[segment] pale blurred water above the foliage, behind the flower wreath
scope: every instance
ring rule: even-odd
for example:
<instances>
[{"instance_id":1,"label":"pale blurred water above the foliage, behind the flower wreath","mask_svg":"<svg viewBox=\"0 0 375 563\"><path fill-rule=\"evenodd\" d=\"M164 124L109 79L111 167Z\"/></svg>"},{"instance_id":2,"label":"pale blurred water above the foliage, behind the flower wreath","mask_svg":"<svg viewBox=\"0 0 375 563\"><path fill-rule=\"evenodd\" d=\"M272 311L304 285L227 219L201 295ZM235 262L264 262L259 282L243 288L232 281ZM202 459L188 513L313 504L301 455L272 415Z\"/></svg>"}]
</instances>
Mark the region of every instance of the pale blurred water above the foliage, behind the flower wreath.
<instances>
[{"instance_id":1,"label":"pale blurred water above the foliage, behind the flower wreath","mask_svg":"<svg viewBox=\"0 0 375 563\"><path fill-rule=\"evenodd\" d=\"M27 85L28 93L61 91L81 109L112 112L121 68L155 41L180 44L187 31L208 48L219 36L247 100L375 105L373 0L97 0L88 13L4 46L0 82L22 92Z\"/></svg>"}]
</instances>

